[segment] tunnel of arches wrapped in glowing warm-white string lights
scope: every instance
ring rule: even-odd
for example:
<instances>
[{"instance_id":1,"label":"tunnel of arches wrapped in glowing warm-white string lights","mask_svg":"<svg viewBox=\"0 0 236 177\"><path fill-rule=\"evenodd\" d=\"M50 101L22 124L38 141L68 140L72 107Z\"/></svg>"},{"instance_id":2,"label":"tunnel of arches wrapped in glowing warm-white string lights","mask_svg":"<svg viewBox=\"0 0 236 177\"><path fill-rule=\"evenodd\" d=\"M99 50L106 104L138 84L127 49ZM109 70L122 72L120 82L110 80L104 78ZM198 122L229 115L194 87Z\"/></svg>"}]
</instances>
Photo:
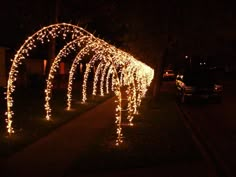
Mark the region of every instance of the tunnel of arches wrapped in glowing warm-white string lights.
<instances>
[{"instance_id":1,"label":"tunnel of arches wrapped in glowing warm-white string lights","mask_svg":"<svg viewBox=\"0 0 236 177\"><path fill-rule=\"evenodd\" d=\"M77 67L83 62L86 62L86 68L83 74L82 83L82 100L81 103L87 102L87 84L88 77L94 69L92 95L97 95L98 89L100 96L109 94L113 91L116 99L115 102L115 123L117 125L116 145L119 145L122 140L122 92L121 88L127 86L128 100L128 120L132 124L134 115L137 114L137 108L141 104L141 99L145 96L147 88L150 86L154 76L154 71L149 66L135 59L132 55L124 52L116 47L108 44L104 40L96 38L94 35L84 30L83 28L67 24L59 23L47 27L43 27L35 32L32 36L25 40L23 45L17 51L12 60L12 66L9 72L7 82L7 111L6 123L8 134L13 134L13 92L15 91L15 81L19 73L19 66L22 61L29 56L29 52L37 47L38 43L44 44L52 39L61 38L69 41L57 54L53 60L49 74L46 80L45 88L45 112L46 120L52 119L51 95L53 89L53 80L57 74L62 59L66 59L71 53L75 53L76 57L70 67L68 85L67 85L67 110L72 107L72 89L73 80ZM85 57L86 56L86 57ZM88 59L89 58L89 59ZM98 87L99 85L99 87ZM104 89L105 93L104 93Z\"/></svg>"}]
</instances>

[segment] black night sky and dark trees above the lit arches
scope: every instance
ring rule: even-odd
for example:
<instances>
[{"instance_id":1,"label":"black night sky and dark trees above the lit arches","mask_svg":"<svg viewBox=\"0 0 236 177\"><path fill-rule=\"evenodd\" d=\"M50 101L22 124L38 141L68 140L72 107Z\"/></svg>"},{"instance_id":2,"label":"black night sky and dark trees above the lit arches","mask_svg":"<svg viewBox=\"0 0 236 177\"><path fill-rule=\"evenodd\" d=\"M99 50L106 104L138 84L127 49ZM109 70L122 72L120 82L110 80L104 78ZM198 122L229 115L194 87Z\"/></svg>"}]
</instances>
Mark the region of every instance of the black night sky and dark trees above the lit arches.
<instances>
[{"instance_id":1,"label":"black night sky and dark trees above the lit arches","mask_svg":"<svg viewBox=\"0 0 236 177\"><path fill-rule=\"evenodd\" d=\"M226 56L233 62L234 4L213 0L9 0L0 6L0 45L16 51L41 27L67 22L152 66L166 48L170 63L188 54Z\"/></svg>"}]
</instances>

